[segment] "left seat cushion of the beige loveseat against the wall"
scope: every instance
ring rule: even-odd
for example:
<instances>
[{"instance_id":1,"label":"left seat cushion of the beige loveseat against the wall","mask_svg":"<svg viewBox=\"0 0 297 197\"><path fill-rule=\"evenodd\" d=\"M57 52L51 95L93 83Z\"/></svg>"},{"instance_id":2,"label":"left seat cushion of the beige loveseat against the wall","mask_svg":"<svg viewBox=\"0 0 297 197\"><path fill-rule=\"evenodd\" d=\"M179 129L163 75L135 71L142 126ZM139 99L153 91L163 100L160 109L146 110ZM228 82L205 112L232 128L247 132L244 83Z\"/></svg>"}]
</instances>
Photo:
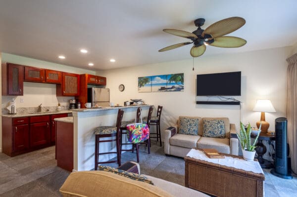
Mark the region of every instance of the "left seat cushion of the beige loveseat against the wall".
<instances>
[{"instance_id":1,"label":"left seat cushion of the beige loveseat against the wall","mask_svg":"<svg viewBox=\"0 0 297 197\"><path fill-rule=\"evenodd\" d=\"M173 146L195 149L197 147L197 141L199 140L199 138L199 135L185 135L178 133L173 135L169 139L169 144Z\"/></svg>"}]
</instances>

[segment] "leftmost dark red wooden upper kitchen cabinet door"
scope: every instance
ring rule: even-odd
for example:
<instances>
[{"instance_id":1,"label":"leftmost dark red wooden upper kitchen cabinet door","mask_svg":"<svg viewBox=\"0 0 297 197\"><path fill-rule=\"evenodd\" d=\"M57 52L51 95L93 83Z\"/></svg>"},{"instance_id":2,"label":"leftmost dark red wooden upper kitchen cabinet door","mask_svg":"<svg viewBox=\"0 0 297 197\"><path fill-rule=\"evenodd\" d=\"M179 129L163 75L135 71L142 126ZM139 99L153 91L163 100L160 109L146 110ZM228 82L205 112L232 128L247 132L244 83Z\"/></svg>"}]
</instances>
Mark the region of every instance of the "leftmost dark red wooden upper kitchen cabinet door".
<instances>
[{"instance_id":1,"label":"leftmost dark red wooden upper kitchen cabinet door","mask_svg":"<svg viewBox=\"0 0 297 197\"><path fill-rule=\"evenodd\" d=\"M7 63L7 69L8 95L23 95L24 66Z\"/></svg>"}]
</instances>

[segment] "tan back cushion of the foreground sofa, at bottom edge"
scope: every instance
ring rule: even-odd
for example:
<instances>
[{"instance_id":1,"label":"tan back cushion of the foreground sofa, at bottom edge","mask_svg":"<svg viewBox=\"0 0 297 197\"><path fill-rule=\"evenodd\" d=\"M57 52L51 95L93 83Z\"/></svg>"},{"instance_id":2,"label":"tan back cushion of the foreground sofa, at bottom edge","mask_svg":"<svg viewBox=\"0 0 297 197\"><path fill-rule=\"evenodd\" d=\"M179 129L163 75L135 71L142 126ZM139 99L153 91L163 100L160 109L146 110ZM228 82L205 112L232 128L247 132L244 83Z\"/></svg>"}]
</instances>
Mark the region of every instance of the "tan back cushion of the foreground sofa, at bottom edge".
<instances>
[{"instance_id":1,"label":"tan back cushion of the foreground sofa, at bottom edge","mask_svg":"<svg viewBox=\"0 0 297 197\"><path fill-rule=\"evenodd\" d=\"M156 186L105 171L72 172L60 193L63 197L173 197Z\"/></svg>"}]
</instances>

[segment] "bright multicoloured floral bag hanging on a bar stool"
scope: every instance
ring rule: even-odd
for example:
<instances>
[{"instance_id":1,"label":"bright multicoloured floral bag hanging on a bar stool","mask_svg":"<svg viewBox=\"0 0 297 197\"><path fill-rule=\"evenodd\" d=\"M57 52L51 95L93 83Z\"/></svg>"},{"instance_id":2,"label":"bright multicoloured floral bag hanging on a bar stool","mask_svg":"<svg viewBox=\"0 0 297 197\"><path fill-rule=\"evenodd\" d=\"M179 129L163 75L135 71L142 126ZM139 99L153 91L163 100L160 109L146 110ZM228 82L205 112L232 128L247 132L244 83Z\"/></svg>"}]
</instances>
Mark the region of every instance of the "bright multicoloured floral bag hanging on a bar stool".
<instances>
[{"instance_id":1,"label":"bright multicoloured floral bag hanging on a bar stool","mask_svg":"<svg viewBox=\"0 0 297 197\"><path fill-rule=\"evenodd\" d=\"M149 138L148 124L133 123L127 125L127 138L130 143L145 142Z\"/></svg>"}]
</instances>

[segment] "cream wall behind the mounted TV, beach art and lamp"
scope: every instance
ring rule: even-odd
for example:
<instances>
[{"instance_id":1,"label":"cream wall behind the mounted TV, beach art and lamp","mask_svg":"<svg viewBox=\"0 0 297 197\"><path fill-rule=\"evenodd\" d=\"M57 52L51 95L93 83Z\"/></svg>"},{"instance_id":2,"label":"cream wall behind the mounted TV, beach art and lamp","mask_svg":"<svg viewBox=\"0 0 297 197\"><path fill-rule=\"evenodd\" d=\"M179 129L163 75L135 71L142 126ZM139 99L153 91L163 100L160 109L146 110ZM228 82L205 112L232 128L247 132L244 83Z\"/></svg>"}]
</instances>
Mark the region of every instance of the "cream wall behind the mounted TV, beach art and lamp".
<instances>
[{"instance_id":1,"label":"cream wall behind the mounted TV, beach art and lamp","mask_svg":"<svg viewBox=\"0 0 297 197\"><path fill-rule=\"evenodd\" d=\"M226 49L228 50L228 49ZM286 104L286 58L291 47L251 51L195 58L195 71L192 71L192 59L143 65L124 69L100 72L107 78L110 88L110 101L123 105L129 99L143 99L148 104L163 106L161 129L176 123L178 116L228 117L236 123L237 129L242 121L255 126L260 119L259 112L252 109L257 99L270 99L276 113L266 113L270 129L274 130L274 120L285 116ZM196 105L196 75L220 72L242 72L242 101L240 106ZM138 92L138 77L184 73L184 92ZM125 90L118 90L119 84ZM203 85L203 84L201 84Z\"/></svg>"}]
</instances>

